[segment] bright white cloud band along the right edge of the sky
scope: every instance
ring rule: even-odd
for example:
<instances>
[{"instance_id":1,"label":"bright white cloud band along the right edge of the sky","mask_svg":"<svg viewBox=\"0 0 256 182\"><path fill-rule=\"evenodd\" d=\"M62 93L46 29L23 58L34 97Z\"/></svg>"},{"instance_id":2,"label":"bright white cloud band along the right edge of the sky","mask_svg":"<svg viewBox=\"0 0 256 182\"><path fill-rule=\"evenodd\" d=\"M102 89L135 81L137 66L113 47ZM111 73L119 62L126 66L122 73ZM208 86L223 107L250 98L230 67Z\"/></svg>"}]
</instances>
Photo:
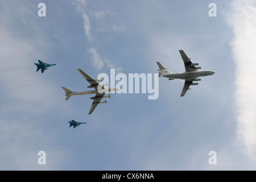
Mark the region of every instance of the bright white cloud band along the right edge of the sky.
<instances>
[{"instance_id":1,"label":"bright white cloud band along the right edge of the sky","mask_svg":"<svg viewBox=\"0 0 256 182\"><path fill-rule=\"evenodd\" d=\"M236 64L237 137L243 150L256 159L256 7L255 1L232 1L229 24L233 28Z\"/></svg>"}]
</instances>

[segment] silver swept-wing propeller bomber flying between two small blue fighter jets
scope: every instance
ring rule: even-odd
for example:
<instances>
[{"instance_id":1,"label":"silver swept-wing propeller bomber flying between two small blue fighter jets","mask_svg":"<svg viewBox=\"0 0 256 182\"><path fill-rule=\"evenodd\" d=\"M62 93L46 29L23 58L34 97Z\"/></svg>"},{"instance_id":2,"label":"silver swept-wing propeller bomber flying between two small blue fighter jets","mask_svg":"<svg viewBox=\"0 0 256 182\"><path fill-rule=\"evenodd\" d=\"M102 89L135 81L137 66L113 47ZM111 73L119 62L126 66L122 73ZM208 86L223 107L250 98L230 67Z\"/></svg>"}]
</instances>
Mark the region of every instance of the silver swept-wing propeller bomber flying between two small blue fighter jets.
<instances>
[{"instance_id":1,"label":"silver swept-wing propeller bomber flying between two small blue fighter jets","mask_svg":"<svg viewBox=\"0 0 256 182\"><path fill-rule=\"evenodd\" d=\"M106 92L112 92L112 91L117 91L120 90L120 88L106 88L105 85L106 84L99 84L97 81L102 81L101 79L96 79L94 80L92 77L90 77L89 75L87 75L85 72L83 72L81 69L77 69L77 71L79 71L79 73L81 73L81 75L89 82L89 86L88 88L94 88L94 90L90 90L90 91L83 91L83 92L72 92L71 90L62 87L63 90L65 91L65 96L66 97L66 101L71 97L71 96L76 96L76 95L87 95L87 94L96 94L96 96L91 97L90 99L93 100L92 106L90 107L89 113L88 114L92 114L94 109L97 107L98 104L103 104L103 103L107 103L107 101L102 101L102 98L106 98L109 97L110 98L110 94L108 96L105 96ZM100 88L100 89L98 89Z\"/></svg>"}]
</instances>

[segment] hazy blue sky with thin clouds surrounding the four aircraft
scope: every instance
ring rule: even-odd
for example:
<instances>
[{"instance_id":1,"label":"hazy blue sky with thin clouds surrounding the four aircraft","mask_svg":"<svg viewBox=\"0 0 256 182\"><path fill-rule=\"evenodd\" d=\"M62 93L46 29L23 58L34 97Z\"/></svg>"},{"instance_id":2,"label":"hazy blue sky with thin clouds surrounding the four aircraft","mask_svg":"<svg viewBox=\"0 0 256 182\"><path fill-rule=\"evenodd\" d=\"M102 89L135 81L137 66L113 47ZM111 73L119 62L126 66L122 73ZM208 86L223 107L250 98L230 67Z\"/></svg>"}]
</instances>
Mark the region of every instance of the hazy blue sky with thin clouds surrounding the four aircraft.
<instances>
[{"instance_id":1,"label":"hazy blue sky with thin clouds surrounding the four aircraft","mask_svg":"<svg viewBox=\"0 0 256 182\"><path fill-rule=\"evenodd\" d=\"M255 1L11 0L0 11L0 170L256 169ZM160 77L155 100L111 93L91 115L93 95L65 101L62 86L92 89L77 69L184 72L180 49L215 72L184 97L183 80ZM56 65L42 74L38 60Z\"/></svg>"}]
</instances>

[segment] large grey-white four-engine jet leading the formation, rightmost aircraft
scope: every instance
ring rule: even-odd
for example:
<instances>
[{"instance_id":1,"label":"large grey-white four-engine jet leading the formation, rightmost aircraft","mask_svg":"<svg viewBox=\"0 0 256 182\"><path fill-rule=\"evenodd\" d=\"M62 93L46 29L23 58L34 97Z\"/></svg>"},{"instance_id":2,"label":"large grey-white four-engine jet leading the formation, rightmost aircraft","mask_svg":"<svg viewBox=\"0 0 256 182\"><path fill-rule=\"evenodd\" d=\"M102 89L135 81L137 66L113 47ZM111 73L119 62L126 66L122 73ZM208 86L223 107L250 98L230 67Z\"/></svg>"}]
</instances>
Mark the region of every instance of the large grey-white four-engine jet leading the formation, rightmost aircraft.
<instances>
[{"instance_id":1,"label":"large grey-white four-engine jet leading the formation, rightmost aircraft","mask_svg":"<svg viewBox=\"0 0 256 182\"><path fill-rule=\"evenodd\" d=\"M167 77L169 80L174 80L174 79L181 79L185 80L185 84L183 87L183 90L181 92L180 97L183 97L187 90L189 89L190 85L198 85L198 82L193 82L193 81L200 81L201 79L198 77L201 76L209 76L213 75L214 72L210 70L206 71L199 71L198 69L201 69L201 67L195 67L199 65L198 63L192 63L191 58L188 58L188 56L185 54L183 50L180 50L180 55L183 59L184 65L185 65L185 72L183 73L171 73L167 71L168 68L164 67L160 62L156 62L158 64L158 69L159 71L159 76Z\"/></svg>"}]
</instances>

